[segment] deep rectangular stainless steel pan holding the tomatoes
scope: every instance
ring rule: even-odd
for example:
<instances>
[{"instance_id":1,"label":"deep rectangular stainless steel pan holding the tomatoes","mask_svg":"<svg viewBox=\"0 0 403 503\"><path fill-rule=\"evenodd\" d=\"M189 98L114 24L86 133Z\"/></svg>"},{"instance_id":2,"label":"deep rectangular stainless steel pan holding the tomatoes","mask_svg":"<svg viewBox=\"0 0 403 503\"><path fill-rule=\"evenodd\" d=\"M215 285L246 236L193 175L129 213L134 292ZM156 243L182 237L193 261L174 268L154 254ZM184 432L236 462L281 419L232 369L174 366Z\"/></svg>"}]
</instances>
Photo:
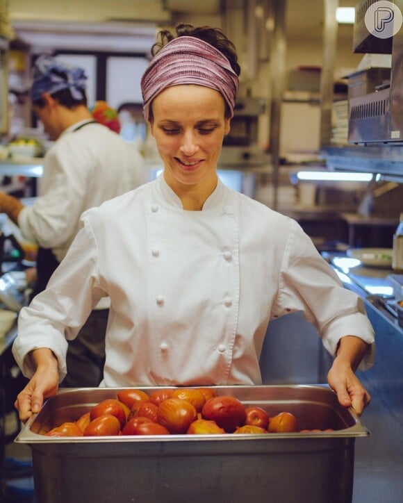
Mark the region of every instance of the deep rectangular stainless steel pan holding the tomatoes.
<instances>
[{"instance_id":1,"label":"deep rectangular stainless steel pan holding the tomatoes","mask_svg":"<svg viewBox=\"0 0 403 503\"><path fill-rule=\"evenodd\" d=\"M270 416L294 413L289 434L52 437L40 434L79 418L122 388L60 390L15 439L33 452L41 503L231 502L351 503L354 440L369 431L329 386L214 386ZM161 388L140 388L151 393Z\"/></svg>"}]
</instances>

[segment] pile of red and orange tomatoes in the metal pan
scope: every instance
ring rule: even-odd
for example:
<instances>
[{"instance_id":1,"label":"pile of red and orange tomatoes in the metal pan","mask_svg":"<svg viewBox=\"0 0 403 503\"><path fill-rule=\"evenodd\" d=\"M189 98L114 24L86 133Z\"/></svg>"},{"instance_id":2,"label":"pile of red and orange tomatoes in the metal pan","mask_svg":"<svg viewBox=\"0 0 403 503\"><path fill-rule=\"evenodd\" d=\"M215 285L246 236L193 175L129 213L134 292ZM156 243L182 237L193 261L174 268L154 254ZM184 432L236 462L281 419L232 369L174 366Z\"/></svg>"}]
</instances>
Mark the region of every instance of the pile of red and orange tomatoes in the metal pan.
<instances>
[{"instance_id":1,"label":"pile of red and orange tomatoes in the metal pan","mask_svg":"<svg viewBox=\"0 0 403 503\"><path fill-rule=\"evenodd\" d=\"M161 388L150 394L126 388L117 392L116 398L99 402L76 421L63 422L44 434L116 436L295 431L298 431L297 419L292 413L281 412L270 417L259 406L245 406L231 395L217 395L214 388Z\"/></svg>"}]
</instances>

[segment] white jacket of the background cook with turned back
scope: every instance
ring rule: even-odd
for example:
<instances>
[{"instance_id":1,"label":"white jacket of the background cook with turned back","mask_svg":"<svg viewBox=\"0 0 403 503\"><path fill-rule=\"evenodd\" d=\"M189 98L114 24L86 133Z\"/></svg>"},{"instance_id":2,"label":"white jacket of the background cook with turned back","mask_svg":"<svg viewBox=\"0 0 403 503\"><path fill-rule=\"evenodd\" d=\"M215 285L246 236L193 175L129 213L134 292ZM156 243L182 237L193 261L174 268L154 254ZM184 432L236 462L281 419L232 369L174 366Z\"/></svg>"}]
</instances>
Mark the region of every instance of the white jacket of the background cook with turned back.
<instances>
[{"instance_id":1,"label":"white jacket of the background cook with turned back","mask_svg":"<svg viewBox=\"0 0 403 503\"><path fill-rule=\"evenodd\" d=\"M106 126L86 122L63 131L47 151L41 195L18 216L24 238L52 249L59 262L83 211L145 181L144 161L135 147Z\"/></svg>"}]
</instances>

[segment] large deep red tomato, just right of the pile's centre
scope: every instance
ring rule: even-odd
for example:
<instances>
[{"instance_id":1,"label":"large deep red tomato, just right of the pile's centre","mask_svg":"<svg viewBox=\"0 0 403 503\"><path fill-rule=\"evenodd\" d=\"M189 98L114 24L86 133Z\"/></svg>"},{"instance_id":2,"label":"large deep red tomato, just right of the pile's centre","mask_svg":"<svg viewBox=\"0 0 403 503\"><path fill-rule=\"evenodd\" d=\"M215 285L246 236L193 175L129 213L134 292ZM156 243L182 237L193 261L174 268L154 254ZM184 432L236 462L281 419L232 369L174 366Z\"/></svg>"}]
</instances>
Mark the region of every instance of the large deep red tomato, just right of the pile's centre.
<instances>
[{"instance_id":1,"label":"large deep red tomato, just right of the pile's centre","mask_svg":"<svg viewBox=\"0 0 403 503\"><path fill-rule=\"evenodd\" d=\"M215 421L227 433L232 433L237 426L242 426L246 418L245 406L238 398L229 395L207 400L201 415L204 419Z\"/></svg>"}]
</instances>

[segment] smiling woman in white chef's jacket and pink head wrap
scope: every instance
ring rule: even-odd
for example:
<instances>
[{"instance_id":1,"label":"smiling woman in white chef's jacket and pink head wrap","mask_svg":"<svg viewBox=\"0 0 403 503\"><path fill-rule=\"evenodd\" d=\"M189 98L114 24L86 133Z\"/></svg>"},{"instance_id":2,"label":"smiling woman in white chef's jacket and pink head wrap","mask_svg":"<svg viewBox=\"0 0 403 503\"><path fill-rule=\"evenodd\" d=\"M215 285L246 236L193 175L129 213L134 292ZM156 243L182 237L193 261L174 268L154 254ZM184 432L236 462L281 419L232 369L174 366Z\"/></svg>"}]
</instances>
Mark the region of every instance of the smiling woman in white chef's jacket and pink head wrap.
<instances>
[{"instance_id":1,"label":"smiling woman in white chef's jacket and pink head wrap","mask_svg":"<svg viewBox=\"0 0 403 503\"><path fill-rule=\"evenodd\" d=\"M215 28L176 32L161 34L142 77L163 174L83 213L47 289L22 309L13 352L31 381L19 416L56 393L66 340L106 296L103 386L261 384L268 322L303 311L335 356L328 379L339 402L361 414L370 396L354 370L371 365L374 343L363 302L295 221L218 179L236 52Z\"/></svg>"}]
</instances>

